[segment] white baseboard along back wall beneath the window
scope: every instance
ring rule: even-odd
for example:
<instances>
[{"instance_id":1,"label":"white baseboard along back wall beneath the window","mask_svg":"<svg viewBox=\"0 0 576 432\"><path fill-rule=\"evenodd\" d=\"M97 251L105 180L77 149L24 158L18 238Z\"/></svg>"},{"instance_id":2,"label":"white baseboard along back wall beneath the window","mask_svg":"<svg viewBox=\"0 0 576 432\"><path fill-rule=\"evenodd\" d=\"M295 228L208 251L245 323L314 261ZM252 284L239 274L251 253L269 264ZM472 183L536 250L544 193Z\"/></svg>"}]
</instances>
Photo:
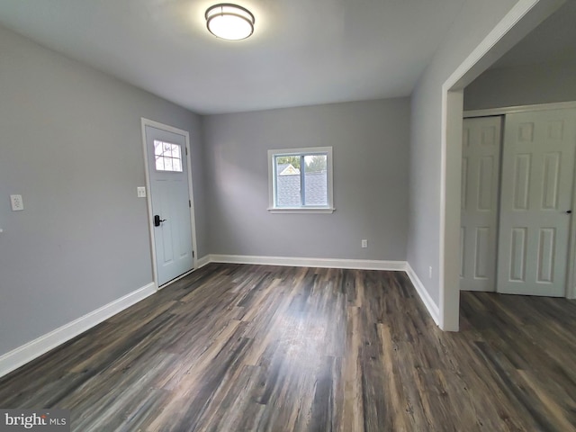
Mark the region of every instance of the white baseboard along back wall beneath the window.
<instances>
[{"instance_id":1,"label":"white baseboard along back wall beneath the window","mask_svg":"<svg viewBox=\"0 0 576 432\"><path fill-rule=\"evenodd\" d=\"M211 263L256 264L265 266L294 266L322 268L352 268L357 270L406 270L406 261L371 259L330 259L300 257L257 257L249 255L210 255Z\"/></svg>"}]
</instances>

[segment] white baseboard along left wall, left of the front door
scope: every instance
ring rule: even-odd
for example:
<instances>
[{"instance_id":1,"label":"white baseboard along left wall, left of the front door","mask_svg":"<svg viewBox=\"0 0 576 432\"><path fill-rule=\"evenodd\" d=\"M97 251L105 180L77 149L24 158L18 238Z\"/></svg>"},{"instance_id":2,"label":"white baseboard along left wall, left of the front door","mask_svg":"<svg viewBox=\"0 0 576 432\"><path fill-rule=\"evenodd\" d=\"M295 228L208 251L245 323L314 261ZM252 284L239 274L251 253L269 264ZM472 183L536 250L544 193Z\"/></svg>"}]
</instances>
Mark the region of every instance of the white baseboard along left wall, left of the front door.
<instances>
[{"instance_id":1,"label":"white baseboard along left wall, left of the front door","mask_svg":"<svg viewBox=\"0 0 576 432\"><path fill-rule=\"evenodd\" d=\"M67 342L71 338L75 338L87 329L92 329L103 320L109 319L112 315L124 311L131 305L144 300L146 297L156 292L157 286L155 283L147 284L118 300L104 305L102 308L89 312L77 320L68 322L62 327L54 329L49 333L40 336L40 338L36 338L31 342L24 344L22 347L17 347L3 356L0 356L0 376L9 374L34 358L47 353L50 349L58 347L58 345Z\"/></svg>"}]
</instances>

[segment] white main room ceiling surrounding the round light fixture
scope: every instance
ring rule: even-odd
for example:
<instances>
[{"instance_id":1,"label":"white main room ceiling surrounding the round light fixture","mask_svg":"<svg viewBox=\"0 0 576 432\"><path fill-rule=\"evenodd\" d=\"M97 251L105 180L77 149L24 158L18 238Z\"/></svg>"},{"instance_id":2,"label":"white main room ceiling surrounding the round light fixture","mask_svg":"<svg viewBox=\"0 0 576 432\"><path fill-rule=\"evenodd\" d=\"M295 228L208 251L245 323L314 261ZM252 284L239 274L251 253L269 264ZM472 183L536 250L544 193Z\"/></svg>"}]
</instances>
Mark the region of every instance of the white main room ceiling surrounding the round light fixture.
<instances>
[{"instance_id":1,"label":"white main room ceiling surrounding the round light fixture","mask_svg":"<svg viewBox=\"0 0 576 432\"><path fill-rule=\"evenodd\" d=\"M407 96L465 0L238 0L248 40L215 39L210 0L2 0L0 23L193 112Z\"/></svg>"}]
</instances>

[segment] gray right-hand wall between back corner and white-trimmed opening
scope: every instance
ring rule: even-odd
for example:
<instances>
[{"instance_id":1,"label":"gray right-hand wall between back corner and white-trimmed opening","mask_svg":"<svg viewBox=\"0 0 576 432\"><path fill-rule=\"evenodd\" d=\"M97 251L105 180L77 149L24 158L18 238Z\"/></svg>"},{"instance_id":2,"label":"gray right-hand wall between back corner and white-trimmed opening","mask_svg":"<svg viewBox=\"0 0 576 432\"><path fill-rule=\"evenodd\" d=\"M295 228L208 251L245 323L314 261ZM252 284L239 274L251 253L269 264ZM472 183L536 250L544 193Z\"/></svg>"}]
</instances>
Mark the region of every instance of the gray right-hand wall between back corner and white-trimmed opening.
<instances>
[{"instance_id":1,"label":"gray right-hand wall between back corner and white-trimmed opening","mask_svg":"<svg viewBox=\"0 0 576 432\"><path fill-rule=\"evenodd\" d=\"M408 261L439 304L442 85L517 0L469 0L412 93ZM448 179L449 181L449 179ZM432 278L428 266L433 267Z\"/></svg>"}]
</instances>

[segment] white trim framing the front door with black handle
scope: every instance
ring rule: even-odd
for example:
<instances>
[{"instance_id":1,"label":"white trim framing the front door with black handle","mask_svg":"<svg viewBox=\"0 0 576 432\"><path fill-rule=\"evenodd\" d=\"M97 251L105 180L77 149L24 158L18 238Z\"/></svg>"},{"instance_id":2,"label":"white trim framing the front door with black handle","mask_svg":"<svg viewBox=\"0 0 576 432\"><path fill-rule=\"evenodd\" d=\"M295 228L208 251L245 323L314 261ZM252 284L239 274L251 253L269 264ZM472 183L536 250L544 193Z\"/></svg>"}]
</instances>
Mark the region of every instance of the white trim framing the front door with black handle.
<instances>
[{"instance_id":1,"label":"white trim framing the front door with black handle","mask_svg":"<svg viewBox=\"0 0 576 432\"><path fill-rule=\"evenodd\" d=\"M142 130L142 148L144 149L144 170L146 173L146 203L148 209L148 234L149 234L149 241L150 241L150 252L152 258L152 280L156 285L157 290L164 288L166 285L171 284L175 280L178 280L177 277L175 280L168 281L166 284L162 286L158 286L158 275L157 275L157 263L156 263L156 246L154 243L154 223L152 221L152 197L150 195L150 170L148 168L148 146L146 144L146 126L150 126L152 128L156 128L159 130L166 130L167 132L172 132L177 135L184 136L184 141L187 149L186 160L188 162L188 193L190 195L190 223L192 225L192 250L193 250L193 269L196 268L197 264L196 261L198 259L198 248L196 247L196 221L194 219L194 194L193 194L193 182L192 182L192 148L190 148L190 133L186 130L177 129L173 126L169 126L164 123L160 123L158 121L148 120L144 117L140 118L141 123L141 130ZM189 272L186 273L186 275Z\"/></svg>"}]
</instances>

